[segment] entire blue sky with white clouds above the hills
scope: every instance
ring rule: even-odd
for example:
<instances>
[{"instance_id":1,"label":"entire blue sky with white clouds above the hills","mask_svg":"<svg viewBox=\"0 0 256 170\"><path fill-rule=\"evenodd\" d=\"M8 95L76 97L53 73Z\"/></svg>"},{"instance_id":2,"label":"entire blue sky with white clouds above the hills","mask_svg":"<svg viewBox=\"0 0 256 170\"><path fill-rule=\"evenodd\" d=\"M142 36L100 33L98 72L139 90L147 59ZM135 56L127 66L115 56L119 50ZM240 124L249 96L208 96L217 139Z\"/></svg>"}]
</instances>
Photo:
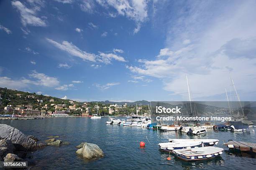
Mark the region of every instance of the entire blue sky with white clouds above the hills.
<instances>
[{"instance_id":1,"label":"entire blue sky with white clouds above the hills","mask_svg":"<svg viewBox=\"0 0 256 170\"><path fill-rule=\"evenodd\" d=\"M0 87L79 101L255 100L256 1L0 1Z\"/></svg>"}]
</instances>

